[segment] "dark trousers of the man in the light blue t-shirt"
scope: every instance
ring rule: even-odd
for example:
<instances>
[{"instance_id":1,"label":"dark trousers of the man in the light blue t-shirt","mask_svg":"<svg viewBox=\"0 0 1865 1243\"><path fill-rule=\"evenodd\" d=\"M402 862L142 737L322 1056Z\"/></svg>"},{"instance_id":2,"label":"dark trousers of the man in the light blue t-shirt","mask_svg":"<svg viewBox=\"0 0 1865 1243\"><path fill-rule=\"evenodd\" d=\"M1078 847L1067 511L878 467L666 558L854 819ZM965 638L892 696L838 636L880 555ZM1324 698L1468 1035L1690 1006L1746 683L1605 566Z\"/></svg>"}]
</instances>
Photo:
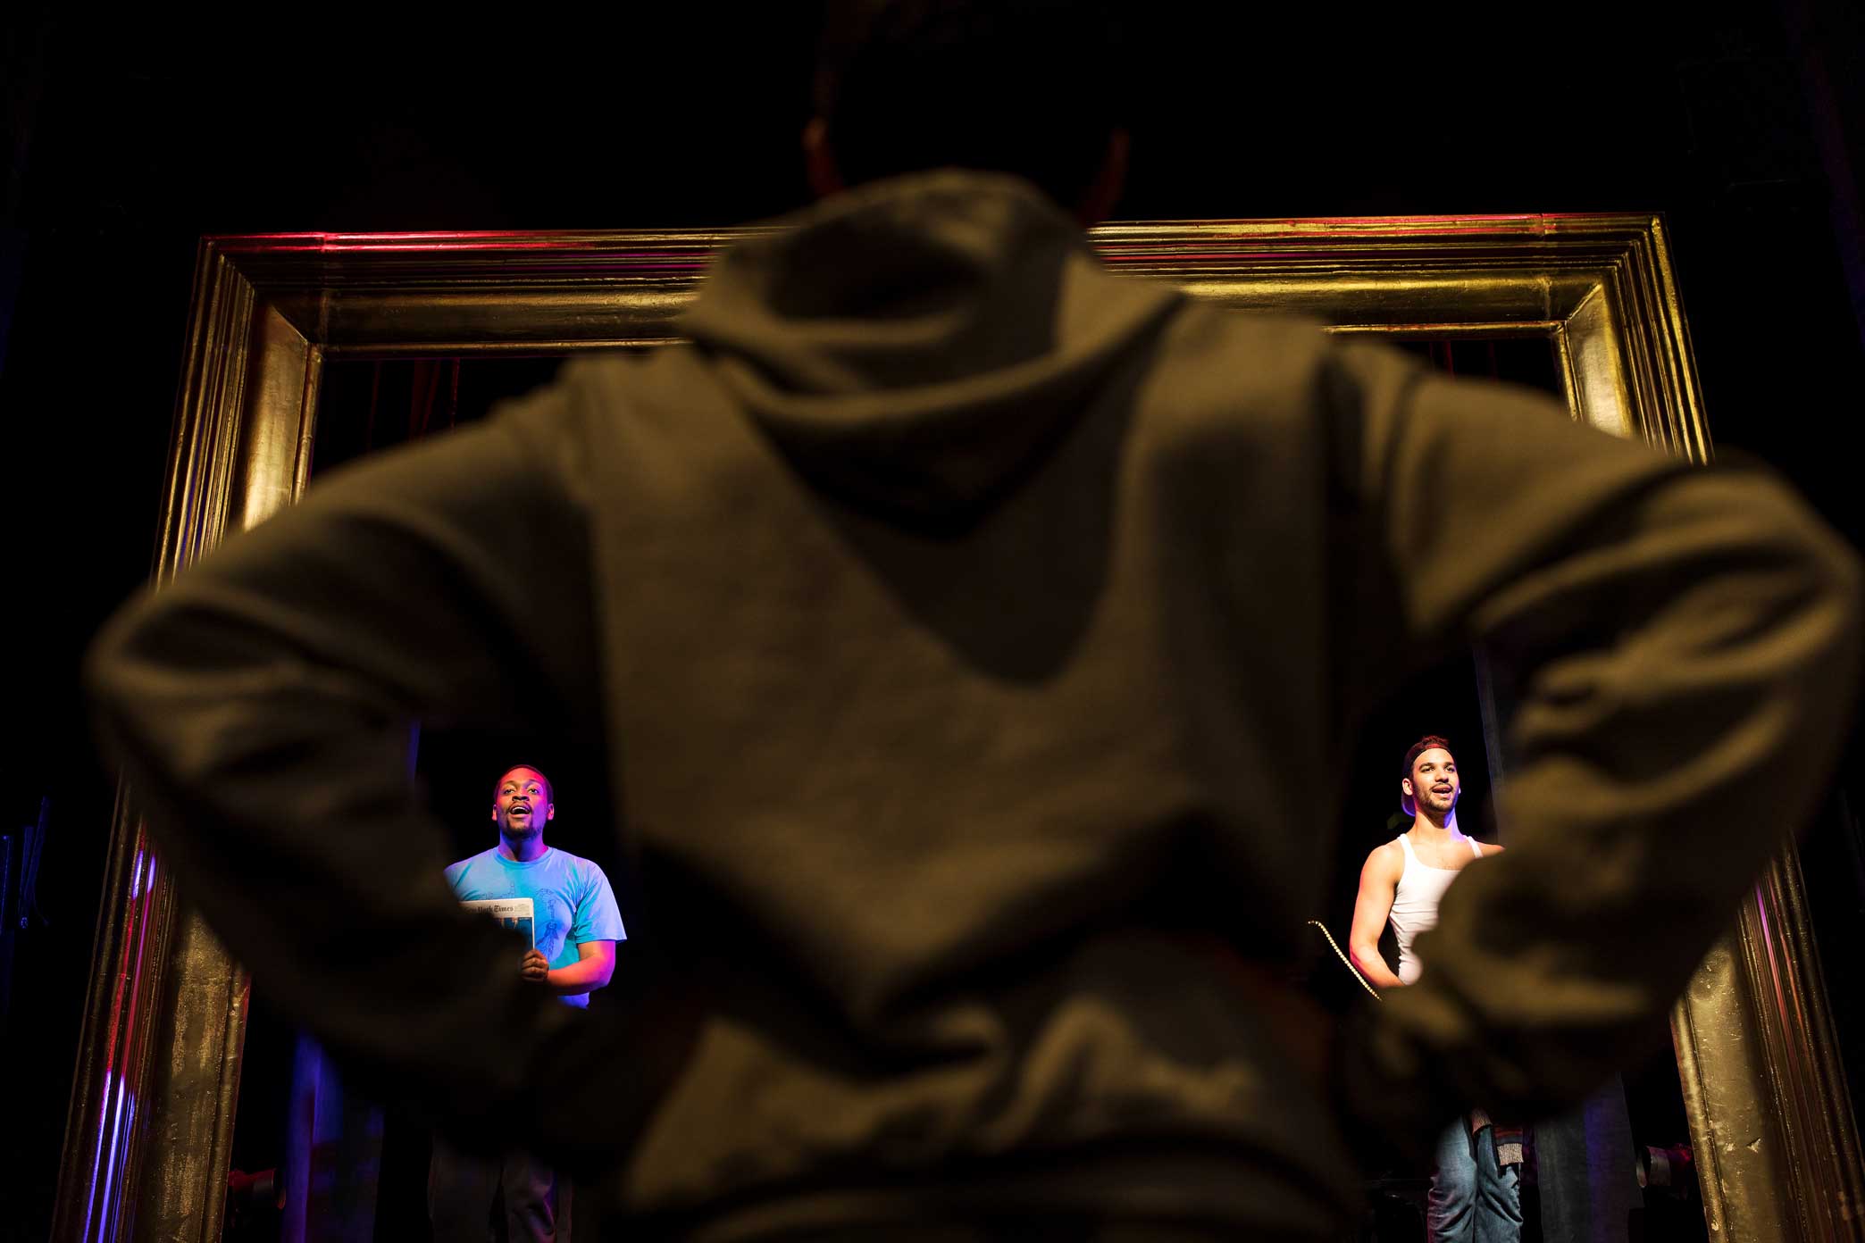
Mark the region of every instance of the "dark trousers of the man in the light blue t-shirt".
<instances>
[{"instance_id":1,"label":"dark trousers of the man in the light blue t-shirt","mask_svg":"<svg viewBox=\"0 0 1865 1243\"><path fill-rule=\"evenodd\" d=\"M435 1243L569 1243L571 1180L522 1152L474 1157L435 1139L427 1217Z\"/></svg>"}]
</instances>

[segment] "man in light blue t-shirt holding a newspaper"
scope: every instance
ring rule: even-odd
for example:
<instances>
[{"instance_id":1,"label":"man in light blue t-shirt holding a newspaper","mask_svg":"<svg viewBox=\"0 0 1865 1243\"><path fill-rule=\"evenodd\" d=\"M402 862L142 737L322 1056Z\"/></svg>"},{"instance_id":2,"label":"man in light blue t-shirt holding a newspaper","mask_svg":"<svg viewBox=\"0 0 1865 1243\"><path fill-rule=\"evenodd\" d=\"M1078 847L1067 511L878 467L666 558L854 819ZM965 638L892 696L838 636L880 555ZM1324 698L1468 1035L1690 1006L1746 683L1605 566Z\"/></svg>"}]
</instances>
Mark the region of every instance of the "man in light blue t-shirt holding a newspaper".
<instances>
[{"instance_id":1,"label":"man in light blue t-shirt holding a newspaper","mask_svg":"<svg viewBox=\"0 0 1865 1243\"><path fill-rule=\"evenodd\" d=\"M535 949L524 952L518 973L573 1006L587 1006L589 993L615 971L615 941L629 934L602 868L545 844L545 824L556 814L545 773L526 764L507 770L492 792L498 846L449 867L448 883L463 902L530 898ZM436 1243L481 1243L494 1215L505 1221L498 1237L511 1243L563 1243L569 1208L569 1180L560 1183L552 1168L528 1154L483 1159L435 1141L427 1211Z\"/></svg>"}]
</instances>

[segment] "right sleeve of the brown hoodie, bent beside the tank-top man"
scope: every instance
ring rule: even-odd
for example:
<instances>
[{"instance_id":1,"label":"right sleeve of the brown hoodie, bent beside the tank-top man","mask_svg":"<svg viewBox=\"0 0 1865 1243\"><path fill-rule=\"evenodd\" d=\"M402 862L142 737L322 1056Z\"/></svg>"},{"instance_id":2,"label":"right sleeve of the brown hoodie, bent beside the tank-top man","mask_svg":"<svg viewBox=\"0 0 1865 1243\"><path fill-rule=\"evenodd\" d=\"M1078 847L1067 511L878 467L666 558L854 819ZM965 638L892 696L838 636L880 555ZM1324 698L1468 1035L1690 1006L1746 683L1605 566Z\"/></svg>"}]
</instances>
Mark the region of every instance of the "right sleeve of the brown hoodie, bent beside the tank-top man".
<instances>
[{"instance_id":1,"label":"right sleeve of the brown hoodie, bent beside the tank-top man","mask_svg":"<svg viewBox=\"0 0 1865 1243\"><path fill-rule=\"evenodd\" d=\"M1347 570L1352 682L1477 641L1513 704L1509 850L1466 868L1423 978L1343 1042L1352 1113L1416 1146L1470 1105L1567 1105L1662 1031L1824 790L1859 572L1770 475L1662 457L1527 389L1363 345L1330 388L1369 550Z\"/></svg>"}]
</instances>

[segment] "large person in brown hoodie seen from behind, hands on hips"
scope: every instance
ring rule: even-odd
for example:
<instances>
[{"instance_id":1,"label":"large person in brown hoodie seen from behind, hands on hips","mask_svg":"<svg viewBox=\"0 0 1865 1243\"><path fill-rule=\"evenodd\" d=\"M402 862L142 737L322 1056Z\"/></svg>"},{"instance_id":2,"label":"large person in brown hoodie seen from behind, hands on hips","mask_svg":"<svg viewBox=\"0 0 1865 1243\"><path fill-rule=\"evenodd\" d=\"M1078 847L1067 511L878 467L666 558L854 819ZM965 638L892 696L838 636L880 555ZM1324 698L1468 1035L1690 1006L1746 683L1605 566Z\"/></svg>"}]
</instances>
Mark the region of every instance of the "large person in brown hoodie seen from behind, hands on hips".
<instances>
[{"instance_id":1,"label":"large person in brown hoodie seen from behind, hands on hips","mask_svg":"<svg viewBox=\"0 0 1865 1243\"><path fill-rule=\"evenodd\" d=\"M1348 1135L1533 1116L1656 1040L1828 775L1835 537L1761 473L1110 276L1084 13L856 13L824 198L718 259L690 347L334 473L97 643L254 977L448 1127L558 1157L586 1221L1326 1237ZM1509 852L1330 1040L1278 980L1354 721L1471 639L1520 704ZM504 969L408 717L601 738L679 1004Z\"/></svg>"}]
</instances>

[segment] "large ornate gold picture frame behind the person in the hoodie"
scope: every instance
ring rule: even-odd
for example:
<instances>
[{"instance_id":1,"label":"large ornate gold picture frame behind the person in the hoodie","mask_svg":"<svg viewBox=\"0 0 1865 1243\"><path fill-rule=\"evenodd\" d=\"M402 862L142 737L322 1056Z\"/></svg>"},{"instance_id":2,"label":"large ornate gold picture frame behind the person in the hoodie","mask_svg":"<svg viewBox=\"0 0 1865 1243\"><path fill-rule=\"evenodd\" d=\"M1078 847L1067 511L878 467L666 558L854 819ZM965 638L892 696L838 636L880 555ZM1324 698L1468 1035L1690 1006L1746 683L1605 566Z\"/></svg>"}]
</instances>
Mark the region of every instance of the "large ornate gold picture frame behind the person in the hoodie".
<instances>
[{"instance_id":1,"label":"large ornate gold picture frame behind the person in the hoodie","mask_svg":"<svg viewBox=\"0 0 1865 1243\"><path fill-rule=\"evenodd\" d=\"M746 231L205 239L155 576L289 505L325 360L666 343ZM1576 419L1710 457L1664 224L1427 216L1112 224L1117 272L1333 332L1544 337ZM248 984L119 799L54 1239L220 1237ZM1865 1241L1865 1172L1800 863L1783 854L1673 1012L1712 1239Z\"/></svg>"}]
</instances>

